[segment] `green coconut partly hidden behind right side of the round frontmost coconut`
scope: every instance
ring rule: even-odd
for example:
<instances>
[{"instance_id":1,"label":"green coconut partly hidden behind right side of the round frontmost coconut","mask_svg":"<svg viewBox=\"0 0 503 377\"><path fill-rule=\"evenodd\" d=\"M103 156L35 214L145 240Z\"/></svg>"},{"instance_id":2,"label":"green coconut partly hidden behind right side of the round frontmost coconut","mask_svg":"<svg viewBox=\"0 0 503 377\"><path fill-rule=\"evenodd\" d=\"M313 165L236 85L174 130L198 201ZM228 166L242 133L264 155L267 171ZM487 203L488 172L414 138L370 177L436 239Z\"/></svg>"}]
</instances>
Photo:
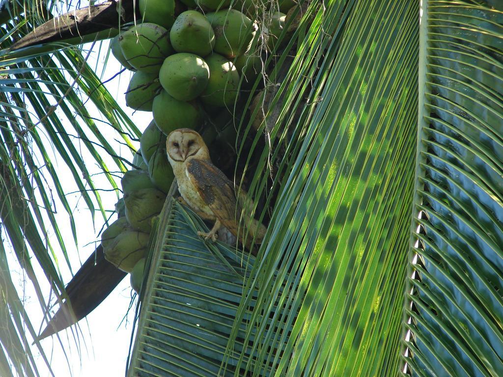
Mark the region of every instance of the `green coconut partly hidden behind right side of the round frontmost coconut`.
<instances>
[{"instance_id":1,"label":"green coconut partly hidden behind right side of the round frontmost coconut","mask_svg":"<svg viewBox=\"0 0 503 377\"><path fill-rule=\"evenodd\" d=\"M205 105L231 107L239 94L239 74L236 67L229 59L219 54L208 56L206 63L210 68L210 80L201 94L201 101Z\"/></svg>"}]
</instances>

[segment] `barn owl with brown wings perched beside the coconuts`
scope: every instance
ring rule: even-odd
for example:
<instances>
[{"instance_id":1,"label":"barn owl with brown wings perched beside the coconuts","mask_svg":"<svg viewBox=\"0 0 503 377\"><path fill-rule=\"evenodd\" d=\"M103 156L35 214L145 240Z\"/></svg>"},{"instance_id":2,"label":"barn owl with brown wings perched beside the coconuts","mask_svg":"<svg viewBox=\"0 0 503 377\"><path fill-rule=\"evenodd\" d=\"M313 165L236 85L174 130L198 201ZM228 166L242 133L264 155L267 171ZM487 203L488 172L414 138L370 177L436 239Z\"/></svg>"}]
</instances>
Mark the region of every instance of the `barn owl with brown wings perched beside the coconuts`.
<instances>
[{"instance_id":1,"label":"barn owl with brown wings perched beside the coconuts","mask_svg":"<svg viewBox=\"0 0 503 377\"><path fill-rule=\"evenodd\" d=\"M188 128L175 130L167 136L166 152L177 178L181 202L201 218L215 221L208 233L198 232L199 236L215 241L223 225L250 250L252 240L262 242L266 228L249 216L253 203L246 201L243 190L236 197L234 183L213 165L201 135ZM244 236L247 236L245 240Z\"/></svg>"}]
</instances>

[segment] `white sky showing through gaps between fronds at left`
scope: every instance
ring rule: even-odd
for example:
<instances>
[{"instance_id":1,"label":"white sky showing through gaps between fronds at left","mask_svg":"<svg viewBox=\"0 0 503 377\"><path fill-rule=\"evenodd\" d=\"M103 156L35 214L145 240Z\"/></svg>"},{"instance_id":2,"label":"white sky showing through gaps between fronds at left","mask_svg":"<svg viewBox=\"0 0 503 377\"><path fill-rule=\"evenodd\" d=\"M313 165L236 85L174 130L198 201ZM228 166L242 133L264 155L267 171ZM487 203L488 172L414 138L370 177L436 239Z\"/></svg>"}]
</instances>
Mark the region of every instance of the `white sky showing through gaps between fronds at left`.
<instances>
[{"instance_id":1,"label":"white sky showing through gaps between fronds at left","mask_svg":"<svg viewBox=\"0 0 503 377\"><path fill-rule=\"evenodd\" d=\"M93 49L93 51L96 52L93 52L90 58L90 64L94 67L95 63L93 63L93 59L94 61L96 61L96 57L99 55L97 62L98 75L100 75L100 70L103 67L103 62L107 55L107 47L108 41L105 41L101 47L101 51L98 54L100 45L99 43L96 44ZM102 80L109 79L120 69L122 69L122 66L120 66L120 64L110 54ZM151 121L152 117L150 112L135 112L133 114L133 110L126 107L124 92L127 89L130 75L131 73L129 71L125 71L120 76L117 76L112 81L106 83L106 86L111 92L112 96L118 102L119 106L131 117L136 126L141 131L143 131L143 129ZM91 115L93 117L99 117L96 110L94 110L93 114L93 106L90 102L86 105L86 108L91 112ZM98 124L98 126L103 127L100 127L100 130L106 137L107 134L109 135L109 137L107 137L109 141L117 138L116 134L110 132L112 130L110 126L106 124ZM123 156L131 160L131 154L125 147L120 147L118 143L114 144L114 147L115 146L120 149L120 153ZM139 145L136 146L138 147ZM82 150L84 150L84 148L82 148ZM85 151L83 151L82 153L85 154ZM103 157L105 158L106 156ZM63 164L56 166L56 169L59 169L58 172L61 171L62 174L65 174L62 165ZM108 166L112 170L117 170L113 168L114 165L110 162ZM95 166L94 160L89 160L87 167L91 170L91 173L99 172L99 170ZM69 193L75 191L75 187L71 185L71 180L71 178L61 179L65 192ZM103 174L95 176L94 180L98 187L109 187L108 182L106 182L103 178ZM100 183L100 181L103 183ZM117 179L117 181L120 187L119 179ZM114 204L116 202L116 194L103 192L101 193L101 195L106 209L113 210ZM100 213L97 213L95 217L95 223L93 225L89 210L87 209L85 202L80 198L78 194L72 194L68 196L68 199L71 205L76 206L74 211L74 218L78 232L78 249L74 245L68 216L64 212L61 205L59 205L58 207L57 202L56 209L58 211L55 216L58 221L58 225L63 233L65 246L68 250L73 272L75 273L80 267L81 263L83 263L94 251L95 245L88 244L99 239L98 232L102 228L104 221L102 215ZM112 219L112 221L114 219L115 217ZM52 244L53 246L56 246L57 249L57 241L55 239L52 241ZM14 257L12 255L10 257L11 258L9 262L11 268L19 268L19 265L15 261ZM66 267L66 263L61 253L58 254L58 258L61 267L61 274L66 284L70 280L71 274ZM36 265L36 262L34 263L34 265ZM36 272L40 272L40 270L36 270ZM32 325L38 332L40 332L39 326L42 323L42 314L36 296L34 292L30 290L30 285L26 284L27 277L23 275L22 271L15 270L13 272L13 275L15 276L15 274L19 274L18 291L20 292L20 296L22 295L21 297L24 300L25 307L28 308L27 311L30 315ZM49 289L46 284L42 285L42 289L44 290L44 293L46 295L49 295ZM75 339L71 331L62 331L59 333L61 342L68 354L68 360L70 363L69 366L65 360L65 356L62 352L61 346L59 345L59 341L55 336L41 341L47 357L52 357L51 365L56 377L124 376L136 301L129 314L127 315L127 321L124 321L122 323L121 321L123 321L123 317L126 316L128 312L128 307L131 300L131 292L132 291L129 286L128 274L126 278L124 278L119 284L119 286L110 294L110 296L87 317L87 322L86 319L83 319L79 322L80 332L78 333L78 347L75 344ZM57 308L55 308L55 310L57 310ZM45 324L43 327L45 327ZM73 329L75 330L75 328ZM36 348L32 347L32 350L35 351ZM42 376L50 375L46 371L47 369L45 367L44 361L40 356L37 357L37 367L40 368Z\"/></svg>"}]
</instances>

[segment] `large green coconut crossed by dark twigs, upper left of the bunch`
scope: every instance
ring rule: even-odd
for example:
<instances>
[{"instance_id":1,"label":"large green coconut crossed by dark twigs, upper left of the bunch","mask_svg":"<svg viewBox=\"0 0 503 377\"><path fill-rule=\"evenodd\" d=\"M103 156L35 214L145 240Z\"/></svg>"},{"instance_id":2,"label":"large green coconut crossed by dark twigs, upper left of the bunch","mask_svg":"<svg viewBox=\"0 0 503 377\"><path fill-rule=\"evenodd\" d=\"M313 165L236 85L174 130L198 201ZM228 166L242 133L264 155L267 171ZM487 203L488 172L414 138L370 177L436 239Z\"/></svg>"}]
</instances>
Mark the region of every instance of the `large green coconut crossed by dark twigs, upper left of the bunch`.
<instances>
[{"instance_id":1,"label":"large green coconut crossed by dark twigs, upper left of the bunch","mask_svg":"<svg viewBox=\"0 0 503 377\"><path fill-rule=\"evenodd\" d=\"M129 64L147 73L158 73L164 59L173 53L167 30L149 22L122 33L119 44Z\"/></svg>"}]
</instances>

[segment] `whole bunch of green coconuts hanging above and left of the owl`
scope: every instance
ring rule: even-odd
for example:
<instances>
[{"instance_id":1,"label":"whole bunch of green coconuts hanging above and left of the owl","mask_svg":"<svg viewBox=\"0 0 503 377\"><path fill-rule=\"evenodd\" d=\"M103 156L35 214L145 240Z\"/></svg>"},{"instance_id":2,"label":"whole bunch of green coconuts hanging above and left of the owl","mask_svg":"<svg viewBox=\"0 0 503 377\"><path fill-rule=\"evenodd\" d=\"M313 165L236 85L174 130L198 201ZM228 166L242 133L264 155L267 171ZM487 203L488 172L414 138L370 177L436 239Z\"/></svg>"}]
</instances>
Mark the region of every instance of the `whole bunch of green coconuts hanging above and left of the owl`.
<instances>
[{"instance_id":1,"label":"whole bunch of green coconuts hanging above and left of the owl","mask_svg":"<svg viewBox=\"0 0 503 377\"><path fill-rule=\"evenodd\" d=\"M166 136L178 128L200 129L219 108L232 110L242 83L261 74L261 52L274 50L286 13L296 4L139 0L142 19L111 40L112 54L134 71L127 106L151 111L153 117L141 136L134 169L121 180L119 219L102 233L105 257L131 273L136 292L152 223L174 179Z\"/></svg>"}]
</instances>

